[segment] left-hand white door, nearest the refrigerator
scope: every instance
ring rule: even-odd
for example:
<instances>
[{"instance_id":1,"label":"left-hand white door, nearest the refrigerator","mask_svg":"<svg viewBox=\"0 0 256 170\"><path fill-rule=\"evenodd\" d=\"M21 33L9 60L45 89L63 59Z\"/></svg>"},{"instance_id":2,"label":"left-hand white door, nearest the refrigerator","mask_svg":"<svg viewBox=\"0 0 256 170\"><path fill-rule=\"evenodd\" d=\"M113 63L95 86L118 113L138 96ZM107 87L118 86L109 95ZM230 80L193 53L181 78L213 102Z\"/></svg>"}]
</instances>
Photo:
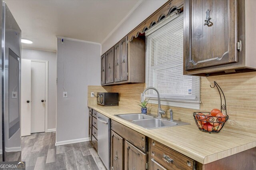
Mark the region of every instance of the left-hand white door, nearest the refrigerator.
<instances>
[{"instance_id":1,"label":"left-hand white door, nearest the refrigerator","mask_svg":"<svg viewBox=\"0 0 256 170\"><path fill-rule=\"evenodd\" d=\"M21 136L31 133L31 61L21 60Z\"/></svg>"}]
</instances>

